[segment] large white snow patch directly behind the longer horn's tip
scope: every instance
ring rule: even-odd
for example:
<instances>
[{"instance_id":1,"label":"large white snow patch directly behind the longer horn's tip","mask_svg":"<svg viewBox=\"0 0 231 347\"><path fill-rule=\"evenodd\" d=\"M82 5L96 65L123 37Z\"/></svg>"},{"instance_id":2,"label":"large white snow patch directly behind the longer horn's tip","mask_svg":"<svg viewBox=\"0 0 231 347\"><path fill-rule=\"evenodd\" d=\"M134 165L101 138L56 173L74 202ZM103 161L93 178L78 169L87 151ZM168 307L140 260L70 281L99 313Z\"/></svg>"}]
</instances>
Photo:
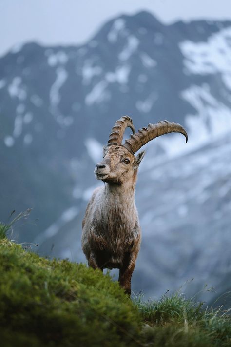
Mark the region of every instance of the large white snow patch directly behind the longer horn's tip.
<instances>
[{"instance_id":1,"label":"large white snow patch directly behind the longer horn's tip","mask_svg":"<svg viewBox=\"0 0 231 347\"><path fill-rule=\"evenodd\" d=\"M181 93L181 97L193 106L195 114L185 118L189 135L187 145L179 134L160 139L169 157L191 152L231 131L231 110L212 96L208 84L192 85Z\"/></svg>"}]
</instances>

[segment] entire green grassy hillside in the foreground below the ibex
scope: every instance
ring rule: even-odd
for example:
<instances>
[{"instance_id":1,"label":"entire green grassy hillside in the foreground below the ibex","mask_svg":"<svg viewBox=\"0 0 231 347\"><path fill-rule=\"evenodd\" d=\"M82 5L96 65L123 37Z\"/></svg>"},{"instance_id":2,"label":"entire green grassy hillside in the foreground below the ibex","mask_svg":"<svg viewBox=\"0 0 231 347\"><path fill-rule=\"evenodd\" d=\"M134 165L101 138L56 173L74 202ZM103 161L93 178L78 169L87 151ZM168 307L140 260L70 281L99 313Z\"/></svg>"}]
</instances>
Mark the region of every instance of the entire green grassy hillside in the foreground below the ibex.
<instances>
[{"instance_id":1,"label":"entire green grassy hillside in the foreground below the ibex","mask_svg":"<svg viewBox=\"0 0 231 347\"><path fill-rule=\"evenodd\" d=\"M130 300L109 275L49 260L0 224L1 346L231 346L231 320L183 296Z\"/></svg>"}]
</instances>

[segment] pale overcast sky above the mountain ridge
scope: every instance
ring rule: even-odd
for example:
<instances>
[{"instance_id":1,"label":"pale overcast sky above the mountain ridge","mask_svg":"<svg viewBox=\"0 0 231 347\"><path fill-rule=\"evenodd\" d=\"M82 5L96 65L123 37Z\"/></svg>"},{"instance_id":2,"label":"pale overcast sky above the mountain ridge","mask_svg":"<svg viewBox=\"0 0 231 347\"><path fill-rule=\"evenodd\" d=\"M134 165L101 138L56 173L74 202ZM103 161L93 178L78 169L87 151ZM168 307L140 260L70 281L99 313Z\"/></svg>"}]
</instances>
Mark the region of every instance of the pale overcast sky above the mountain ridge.
<instances>
[{"instance_id":1,"label":"pale overcast sky above the mountain ridge","mask_svg":"<svg viewBox=\"0 0 231 347\"><path fill-rule=\"evenodd\" d=\"M26 41L83 43L107 20L140 10L164 23L231 20L231 0L0 0L0 55Z\"/></svg>"}]
</instances>

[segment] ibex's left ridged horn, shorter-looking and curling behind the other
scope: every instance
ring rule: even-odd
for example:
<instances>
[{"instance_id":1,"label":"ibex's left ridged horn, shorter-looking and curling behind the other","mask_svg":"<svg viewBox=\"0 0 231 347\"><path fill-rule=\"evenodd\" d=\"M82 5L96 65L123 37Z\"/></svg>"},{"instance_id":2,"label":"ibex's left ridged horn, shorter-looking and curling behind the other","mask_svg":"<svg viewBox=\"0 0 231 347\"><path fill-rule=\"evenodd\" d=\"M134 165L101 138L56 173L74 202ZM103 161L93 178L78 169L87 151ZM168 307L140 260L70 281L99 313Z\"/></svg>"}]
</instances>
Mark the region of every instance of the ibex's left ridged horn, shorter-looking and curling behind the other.
<instances>
[{"instance_id":1,"label":"ibex's left ridged horn, shorter-looking and curling behind the other","mask_svg":"<svg viewBox=\"0 0 231 347\"><path fill-rule=\"evenodd\" d=\"M120 146L123 140L124 131L127 127L131 128L133 134L135 134L135 128L132 118L130 118L129 116L123 116L118 121L116 121L114 127L112 128L112 132L109 135L108 146L111 146L112 144Z\"/></svg>"}]
</instances>

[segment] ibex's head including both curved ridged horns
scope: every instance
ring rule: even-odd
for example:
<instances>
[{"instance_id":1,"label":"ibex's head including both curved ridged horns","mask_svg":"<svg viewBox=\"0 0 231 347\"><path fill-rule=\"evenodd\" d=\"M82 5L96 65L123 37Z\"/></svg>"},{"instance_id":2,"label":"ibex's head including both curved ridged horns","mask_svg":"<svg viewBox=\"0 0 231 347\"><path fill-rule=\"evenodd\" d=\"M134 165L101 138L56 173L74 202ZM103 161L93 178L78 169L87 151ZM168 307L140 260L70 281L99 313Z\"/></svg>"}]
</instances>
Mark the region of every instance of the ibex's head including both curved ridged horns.
<instances>
[{"instance_id":1,"label":"ibex's head including both curved ridged horns","mask_svg":"<svg viewBox=\"0 0 231 347\"><path fill-rule=\"evenodd\" d=\"M132 129L133 135L122 144L127 127ZM137 156L134 155L135 152L157 136L172 132L183 134L186 142L188 141L188 135L180 124L160 121L157 124L149 124L147 128L139 129L135 133L132 119L128 116L121 117L112 128L107 147L103 147L103 160L95 168L96 179L121 184L136 177L139 163L145 152L142 151Z\"/></svg>"}]
</instances>

